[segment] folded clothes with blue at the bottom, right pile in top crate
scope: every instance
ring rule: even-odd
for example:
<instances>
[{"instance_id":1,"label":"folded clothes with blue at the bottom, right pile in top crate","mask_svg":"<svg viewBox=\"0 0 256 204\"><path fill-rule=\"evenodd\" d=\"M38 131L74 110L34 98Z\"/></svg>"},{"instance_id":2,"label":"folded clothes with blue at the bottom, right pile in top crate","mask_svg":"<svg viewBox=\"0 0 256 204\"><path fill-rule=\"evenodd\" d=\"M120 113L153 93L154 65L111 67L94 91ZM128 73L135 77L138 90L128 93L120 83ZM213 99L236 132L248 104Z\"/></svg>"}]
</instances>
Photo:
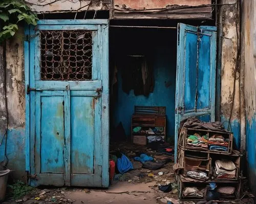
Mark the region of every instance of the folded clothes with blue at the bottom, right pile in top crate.
<instances>
[{"instance_id":1,"label":"folded clothes with blue at the bottom, right pile in top crate","mask_svg":"<svg viewBox=\"0 0 256 204\"><path fill-rule=\"evenodd\" d=\"M218 150L218 151L227 151L228 150L228 139L224 139L222 135L215 134L212 135L209 140L209 149Z\"/></svg>"}]
</instances>

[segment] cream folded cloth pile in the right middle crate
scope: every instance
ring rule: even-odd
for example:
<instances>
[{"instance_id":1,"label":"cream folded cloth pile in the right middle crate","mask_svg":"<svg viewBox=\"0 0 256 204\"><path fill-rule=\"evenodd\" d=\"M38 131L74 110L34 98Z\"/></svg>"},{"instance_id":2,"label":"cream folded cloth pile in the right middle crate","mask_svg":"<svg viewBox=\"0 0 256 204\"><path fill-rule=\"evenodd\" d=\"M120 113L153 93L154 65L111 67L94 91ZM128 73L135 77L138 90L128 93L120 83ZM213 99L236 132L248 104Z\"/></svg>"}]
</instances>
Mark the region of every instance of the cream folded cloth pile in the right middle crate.
<instances>
[{"instance_id":1,"label":"cream folded cloth pile in the right middle crate","mask_svg":"<svg viewBox=\"0 0 256 204\"><path fill-rule=\"evenodd\" d=\"M214 177L236 178L236 165L232 161L215 161Z\"/></svg>"}]
</instances>

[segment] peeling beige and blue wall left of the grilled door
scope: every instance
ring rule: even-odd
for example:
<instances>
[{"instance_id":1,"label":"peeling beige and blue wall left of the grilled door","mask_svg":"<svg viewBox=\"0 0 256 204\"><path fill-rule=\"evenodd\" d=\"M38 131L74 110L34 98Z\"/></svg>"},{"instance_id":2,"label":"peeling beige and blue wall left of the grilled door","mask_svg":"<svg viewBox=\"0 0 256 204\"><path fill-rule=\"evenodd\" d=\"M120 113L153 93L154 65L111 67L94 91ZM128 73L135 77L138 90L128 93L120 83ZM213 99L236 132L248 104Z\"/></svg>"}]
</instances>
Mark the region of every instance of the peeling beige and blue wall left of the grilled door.
<instances>
[{"instance_id":1,"label":"peeling beige and blue wall left of the grilled door","mask_svg":"<svg viewBox=\"0 0 256 204\"><path fill-rule=\"evenodd\" d=\"M25 179L25 83L24 83L24 31L20 29L14 38L6 42L6 84L4 75L0 78L0 162L9 160L8 167L14 170L13 176ZM6 88L4 86L6 85ZM7 103L5 103L5 89ZM6 107L8 108L7 143L4 134L7 127ZM3 140L2 140L3 139Z\"/></svg>"}]
</instances>

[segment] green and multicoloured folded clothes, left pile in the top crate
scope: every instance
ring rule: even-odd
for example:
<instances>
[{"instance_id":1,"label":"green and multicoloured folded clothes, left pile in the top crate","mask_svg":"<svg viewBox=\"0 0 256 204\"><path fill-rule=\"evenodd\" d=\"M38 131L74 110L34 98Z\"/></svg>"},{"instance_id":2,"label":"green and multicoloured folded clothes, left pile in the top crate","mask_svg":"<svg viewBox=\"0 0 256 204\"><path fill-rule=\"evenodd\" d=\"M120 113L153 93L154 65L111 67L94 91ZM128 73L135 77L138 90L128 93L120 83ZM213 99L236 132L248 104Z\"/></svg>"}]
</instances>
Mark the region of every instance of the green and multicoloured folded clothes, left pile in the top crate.
<instances>
[{"instance_id":1,"label":"green and multicoloured folded clothes, left pile in the top crate","mask_svg":"<svg viewBox=\"0 0 256 204\"><path fill-rule=\"evenodd\" d=\"M189 135L189 137L187 138L187 143L186 143L186 147L188 148L204 148L207 149L208 148L208 137L207 135L203 135L201 137L201 135L199 133L195 133L193 135Z\"/></svg>"}]
</instances>

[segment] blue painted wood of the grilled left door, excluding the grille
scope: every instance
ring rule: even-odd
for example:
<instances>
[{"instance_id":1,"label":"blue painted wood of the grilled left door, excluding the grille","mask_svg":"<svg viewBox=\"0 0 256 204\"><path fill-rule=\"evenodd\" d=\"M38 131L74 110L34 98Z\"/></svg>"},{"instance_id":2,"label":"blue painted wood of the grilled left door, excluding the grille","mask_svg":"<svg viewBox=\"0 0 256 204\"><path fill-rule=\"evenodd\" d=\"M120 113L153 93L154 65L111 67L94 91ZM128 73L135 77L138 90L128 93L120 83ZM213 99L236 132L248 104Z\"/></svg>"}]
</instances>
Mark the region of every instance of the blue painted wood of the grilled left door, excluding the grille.
<instances>
[{"instance_id":1,"label":"blue painted wood of the grilled left door, excluding the grille","mask_svg":"<svg viewBox=\"0 0 256 204\"><path fill-rule=\"evenodd\" d=\"M92 32L92 79L41 80L40 31ZM26 171L32 186L109 186L108 20L39 20L25 31Z\"/></svg>"}]
</instances>

